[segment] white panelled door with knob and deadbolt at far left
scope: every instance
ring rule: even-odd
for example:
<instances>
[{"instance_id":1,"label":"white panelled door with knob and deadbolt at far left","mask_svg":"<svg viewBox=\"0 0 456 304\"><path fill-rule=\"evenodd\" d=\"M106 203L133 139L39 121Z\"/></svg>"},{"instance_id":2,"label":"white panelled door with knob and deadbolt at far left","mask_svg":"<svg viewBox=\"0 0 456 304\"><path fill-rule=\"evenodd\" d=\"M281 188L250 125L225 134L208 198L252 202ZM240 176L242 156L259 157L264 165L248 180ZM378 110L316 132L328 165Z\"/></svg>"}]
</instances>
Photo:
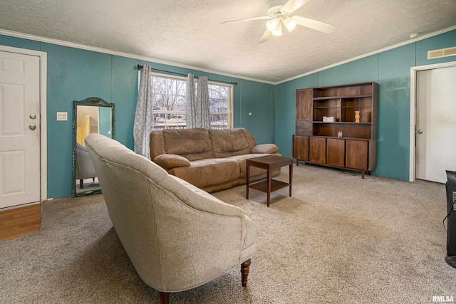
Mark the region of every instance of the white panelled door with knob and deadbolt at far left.
<instances>
[{"instance_id":1,"label":"white panelled door with knob and deadbolt at far left","mask_svg":"<svg viewBox=\"0 0 456 304\"><path fill-rule=\"evenodd\" d=\"M0 51L0 208L40 200L39 85L39 57Z\"/></svg>"}]
</instances>

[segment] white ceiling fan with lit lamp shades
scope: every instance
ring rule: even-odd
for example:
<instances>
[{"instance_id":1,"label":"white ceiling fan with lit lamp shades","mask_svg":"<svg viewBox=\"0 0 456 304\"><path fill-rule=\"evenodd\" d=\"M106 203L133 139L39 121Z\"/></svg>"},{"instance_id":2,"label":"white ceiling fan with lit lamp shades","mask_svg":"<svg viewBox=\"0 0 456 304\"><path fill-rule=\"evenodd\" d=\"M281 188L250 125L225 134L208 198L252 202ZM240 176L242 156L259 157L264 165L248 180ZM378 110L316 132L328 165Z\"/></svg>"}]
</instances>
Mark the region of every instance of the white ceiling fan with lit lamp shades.
<instances>
[{"instance_id":1,"label":"white ceiling fan with lit lamp shades","mask_svg":"<svg viewBox=\"0 0 456 304\"><path fill-rule=\"evenodd\" d=\"M301 16L290 16L296 9L309 2L309 0L274 0L268 6L268 16L237 19L232 21L224 21L222 23L239 22L239 21L251 21L259 19L271 19L266 22L266 31L263 36L259 38L258 43L264 43L271 35L281 36L282 26L285 26L288 31L293 31L296 25L305 26L312 28L316 31L323 33L332 33L336 31L336 26L314 19L309 19Z\"/></svg>"}]
</instances>

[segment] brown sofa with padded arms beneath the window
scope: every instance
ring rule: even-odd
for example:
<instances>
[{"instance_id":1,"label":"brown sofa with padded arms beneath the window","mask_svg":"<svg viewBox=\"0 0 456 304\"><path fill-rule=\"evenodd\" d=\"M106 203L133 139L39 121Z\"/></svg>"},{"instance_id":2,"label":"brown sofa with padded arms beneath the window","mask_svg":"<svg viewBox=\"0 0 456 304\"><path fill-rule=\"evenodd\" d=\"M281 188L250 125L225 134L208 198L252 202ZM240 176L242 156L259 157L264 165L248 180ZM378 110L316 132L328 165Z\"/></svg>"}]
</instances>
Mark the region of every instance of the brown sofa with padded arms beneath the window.
<instances>
[{"instance_id":1,"label":"brown sofa with padded arms beneath the window","mask_svg":"<svg viewBox=\"0 0 456 304\"><path fill-rule=\"evenodd\" d=\"M228 130L166 129L150 132L150 159L168 173L206 192L245 184L245 159L276 154L274 144L257 145L244 128ZM280 169L272 173L280 174ZM251 167L250 180L266 177L264 169Z\"/></svg>"}]
</instances>

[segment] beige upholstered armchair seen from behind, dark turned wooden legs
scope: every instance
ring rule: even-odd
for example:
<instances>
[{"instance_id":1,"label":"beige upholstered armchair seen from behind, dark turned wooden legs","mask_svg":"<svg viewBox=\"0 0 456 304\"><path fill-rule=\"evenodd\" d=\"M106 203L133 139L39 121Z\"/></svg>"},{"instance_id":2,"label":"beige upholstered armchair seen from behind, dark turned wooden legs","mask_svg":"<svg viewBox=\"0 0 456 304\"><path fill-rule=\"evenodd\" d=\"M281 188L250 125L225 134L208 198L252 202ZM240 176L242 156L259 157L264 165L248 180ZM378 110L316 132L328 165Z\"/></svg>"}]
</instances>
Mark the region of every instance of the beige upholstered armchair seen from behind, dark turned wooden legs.
<instances>
[{"instance_id":1,"label":"beige upholstered armchair seen from behind, dark turned wooden legs","mask_svg":"<svg viewBox=\"0 0 456 304\"><path fill-rule=\"evenodd\" d=\"M103 135L86 137L86 147L115 231L161 303L239 264L247 285L257 226L242 209Z\"/></svg>"}]
</instances>

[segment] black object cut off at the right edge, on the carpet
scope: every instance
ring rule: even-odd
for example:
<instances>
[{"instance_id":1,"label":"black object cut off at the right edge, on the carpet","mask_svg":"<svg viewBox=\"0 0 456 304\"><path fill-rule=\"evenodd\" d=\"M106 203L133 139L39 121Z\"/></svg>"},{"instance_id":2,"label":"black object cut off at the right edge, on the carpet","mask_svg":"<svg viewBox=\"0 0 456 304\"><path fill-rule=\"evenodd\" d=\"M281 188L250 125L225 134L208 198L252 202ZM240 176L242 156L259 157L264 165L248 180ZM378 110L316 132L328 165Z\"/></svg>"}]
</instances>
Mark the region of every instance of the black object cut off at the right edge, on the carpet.
<instances>
[{"instance_id":1,"label":"black object cut off at the right edge, on the carpet","mask_svg":"<svg viewBox=\"0 0 456 304\"><path fill-rule=\"evenodd\" d=\"M456 268L456 172L447 170L447 256L448 265ZM445 221L445 220L444 220Z\"/></svg>"}]
</instances>

